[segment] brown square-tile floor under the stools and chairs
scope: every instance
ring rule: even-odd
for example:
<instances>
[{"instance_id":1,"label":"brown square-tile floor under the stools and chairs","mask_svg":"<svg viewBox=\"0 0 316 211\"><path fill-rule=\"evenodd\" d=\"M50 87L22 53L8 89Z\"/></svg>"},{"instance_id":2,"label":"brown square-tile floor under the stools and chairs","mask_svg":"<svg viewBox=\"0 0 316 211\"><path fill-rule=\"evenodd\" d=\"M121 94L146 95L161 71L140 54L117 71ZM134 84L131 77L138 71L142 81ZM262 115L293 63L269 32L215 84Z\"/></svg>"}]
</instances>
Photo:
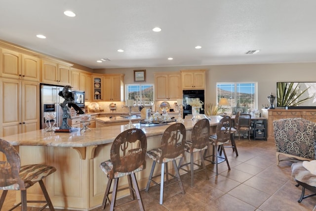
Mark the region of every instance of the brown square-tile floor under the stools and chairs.
<instances>
[{"instance_id":1,"label":"brown square-tile floor under the stools and chairs","mask_svg":"<svg viewBox=\"0 0 316 211\"><path fill-rule=\"evenodd\" d=\"M297 199L301 187L295 187L291 177L291 162L276 163L275 143L267 141L237 141L239 156L231 148L227 155L231 170L225 162L219 164L219 175L215 176L214 165L207 166L209 180L204 171L195 174L195 187L190 185L190 176L182 175L186 194L181 194L177 184L164 191L163 205L159 205L159 188L153 186L149 192L141 191L146 211L312 211L316 196ZM148 167L150 168L150 167ZM309 191L306 191L309 193ZM12 194L12 193L10 193ZM13 193L14 194L14 193ZM11 196L11 197L10 197ZM8 195L3 211L13 204L13 195ZM118 200L124 202L126 198ZM16 209L19 210L19 209ZM28 211L37 211L29 208ZM106 210L109 210L107 206ZM137 203L121 207L118 211L139 210ZM48 209L45 209L48 211ZM56 209L56 211L64 211ZM93 211L101 211L96 208Z\"/></svg>"}]
</instances>

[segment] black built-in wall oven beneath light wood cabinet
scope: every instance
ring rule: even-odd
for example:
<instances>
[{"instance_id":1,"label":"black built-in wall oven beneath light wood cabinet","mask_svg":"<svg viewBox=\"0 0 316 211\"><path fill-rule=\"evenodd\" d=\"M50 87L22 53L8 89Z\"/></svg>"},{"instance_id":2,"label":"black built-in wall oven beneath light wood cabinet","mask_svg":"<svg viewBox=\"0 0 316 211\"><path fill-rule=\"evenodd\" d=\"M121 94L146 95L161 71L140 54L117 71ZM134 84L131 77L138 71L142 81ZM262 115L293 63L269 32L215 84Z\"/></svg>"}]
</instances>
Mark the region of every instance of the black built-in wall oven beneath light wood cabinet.
<instances>
[{"instance_id":1,"label":"black built-in wall oven beneath light wood cabinet","mask_svg":"<svg viewBox=\"0 0 316 211\"><path fill-rule=\"evenodd\" d=\"M190 105L190 102L192 100L200 100L203 103L204 101L204 90L183 90L183 118L185 116L192 114L192 106ZM202 105L202 109L200 109L200 114L204 114L204 104Z\"/></svg>"}]
</instances>

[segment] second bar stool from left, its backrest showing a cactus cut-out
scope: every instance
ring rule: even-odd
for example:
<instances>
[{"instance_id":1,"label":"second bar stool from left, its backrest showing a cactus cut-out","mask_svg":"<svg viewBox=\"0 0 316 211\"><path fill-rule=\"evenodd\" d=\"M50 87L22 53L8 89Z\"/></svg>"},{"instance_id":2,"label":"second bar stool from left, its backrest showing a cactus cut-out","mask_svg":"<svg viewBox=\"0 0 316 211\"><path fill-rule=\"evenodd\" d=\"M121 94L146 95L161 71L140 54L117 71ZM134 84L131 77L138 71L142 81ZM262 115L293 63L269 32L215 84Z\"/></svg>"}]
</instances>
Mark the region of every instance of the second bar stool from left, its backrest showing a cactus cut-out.
<instances>
[{"instance_id":1,"label":"second bar stool from left, its backrest showing a cactus cut-out","mask_svg":"<svg viewBox=\"0 0 316 211\"><path fill-rule=\"evenodd\" d=\"M135 172L146 168L146 150L147 138L144 131L139 128L127 129L115 138L110 151L111 159L100 164L101 170L109 179L102 202L103 210L107 202L110 204L110 210L113 211L134 201L138 201L140 210L144 210ZM128 187L118 189L118 178L122 176L127 176ZM113 180L114 185L111 192L110 188ZM129 189L132 200L115 206L118 191L126 189ZM112 194L111 200L109 198L110 194Z\"/></svg>"}]
</instances>

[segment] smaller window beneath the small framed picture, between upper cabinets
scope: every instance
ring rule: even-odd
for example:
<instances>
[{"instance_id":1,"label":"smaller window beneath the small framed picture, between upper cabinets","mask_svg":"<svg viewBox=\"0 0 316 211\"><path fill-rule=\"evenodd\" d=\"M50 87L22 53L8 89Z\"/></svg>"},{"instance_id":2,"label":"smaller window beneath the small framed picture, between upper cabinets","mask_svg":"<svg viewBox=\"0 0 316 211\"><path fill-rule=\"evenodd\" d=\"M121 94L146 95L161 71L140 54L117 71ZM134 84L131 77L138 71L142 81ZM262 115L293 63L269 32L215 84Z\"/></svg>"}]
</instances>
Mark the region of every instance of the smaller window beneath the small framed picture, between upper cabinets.
<instances>
[{"instance_id":1,"label":"smaller window beneath the small framed picture, between upper cabinets","mask_svg":"<svg viewBox=\"0 0 316 211\"><path fill-rule=\"evenodd\" d=\"M125 87L125 99L136 102L154 101L154 84L126 84Z\"/></svg>"}]
</instances>

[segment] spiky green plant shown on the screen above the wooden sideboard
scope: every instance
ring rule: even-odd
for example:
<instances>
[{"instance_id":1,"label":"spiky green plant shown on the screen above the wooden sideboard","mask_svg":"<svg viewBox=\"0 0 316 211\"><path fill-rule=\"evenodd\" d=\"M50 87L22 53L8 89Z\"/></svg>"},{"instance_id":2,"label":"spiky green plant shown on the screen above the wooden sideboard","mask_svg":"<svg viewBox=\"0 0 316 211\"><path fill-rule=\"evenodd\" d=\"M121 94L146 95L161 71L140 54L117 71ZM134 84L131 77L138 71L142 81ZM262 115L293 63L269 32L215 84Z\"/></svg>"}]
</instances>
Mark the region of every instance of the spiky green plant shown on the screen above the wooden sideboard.
<instances>
[{"instance_id":1,"label":"spiky green plant shown on the screen above the wooden sideboard","mask_svg":"<svg viewBox=\"0 0 316 211\"><path fill-rule=\"evenodd\" d=\"M301 90L299 84L293 88L294 83L277 83L276 87L276 106L277 107L287 107L287 106L297 106L312 97L306 97L304 99L299 99L310 87Z\"/></svg>"}]
</instances>

